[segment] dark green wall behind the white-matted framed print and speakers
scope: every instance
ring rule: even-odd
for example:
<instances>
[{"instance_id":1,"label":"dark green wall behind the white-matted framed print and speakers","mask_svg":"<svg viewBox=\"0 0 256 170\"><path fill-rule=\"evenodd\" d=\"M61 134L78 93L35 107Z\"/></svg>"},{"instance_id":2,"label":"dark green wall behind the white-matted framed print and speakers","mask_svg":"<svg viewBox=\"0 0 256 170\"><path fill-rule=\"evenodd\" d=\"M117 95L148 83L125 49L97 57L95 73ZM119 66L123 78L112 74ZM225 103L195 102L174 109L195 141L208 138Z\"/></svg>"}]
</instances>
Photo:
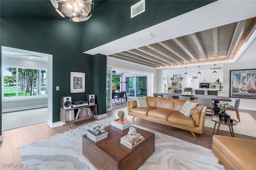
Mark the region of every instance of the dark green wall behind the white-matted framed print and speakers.
<instances>
[{"instance_id":1,"label":"dark green wall behind the white-matted framed print and speakers","mask_svg":"<svg viewBox=\"0 0 256 170\"><path fill-rule=\"evenodd\" d=\"M67 20L0 20L0 45L53 55L53 123L60 121L60 99L86 100L93 91L92 55L82 53L82 23ZM86 92L70 94L70 71L86 73ZM60 86L60 91L56 91Z\"/></svg>"}]
</instances>

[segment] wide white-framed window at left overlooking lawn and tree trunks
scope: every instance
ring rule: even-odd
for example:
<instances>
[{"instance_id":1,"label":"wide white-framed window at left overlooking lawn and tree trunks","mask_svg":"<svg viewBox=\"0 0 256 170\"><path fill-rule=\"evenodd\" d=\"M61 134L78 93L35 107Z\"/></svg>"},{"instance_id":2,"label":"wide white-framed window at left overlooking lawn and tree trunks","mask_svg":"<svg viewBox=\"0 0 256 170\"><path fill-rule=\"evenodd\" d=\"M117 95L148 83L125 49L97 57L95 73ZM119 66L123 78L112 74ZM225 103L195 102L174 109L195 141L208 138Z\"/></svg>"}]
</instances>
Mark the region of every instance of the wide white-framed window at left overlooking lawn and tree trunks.
<instances>
[{"instance_id":1,"label":"wide white-framed window at left overlooking lawn and tree trunks","mask_svg":"<svg viewBox=\"0 0 256 170\"><path fill-rule=\"evenodd\" d=\"M4 67L4 98L47 95L47 79L47 70Z\"/></svg>"}]
</instances>

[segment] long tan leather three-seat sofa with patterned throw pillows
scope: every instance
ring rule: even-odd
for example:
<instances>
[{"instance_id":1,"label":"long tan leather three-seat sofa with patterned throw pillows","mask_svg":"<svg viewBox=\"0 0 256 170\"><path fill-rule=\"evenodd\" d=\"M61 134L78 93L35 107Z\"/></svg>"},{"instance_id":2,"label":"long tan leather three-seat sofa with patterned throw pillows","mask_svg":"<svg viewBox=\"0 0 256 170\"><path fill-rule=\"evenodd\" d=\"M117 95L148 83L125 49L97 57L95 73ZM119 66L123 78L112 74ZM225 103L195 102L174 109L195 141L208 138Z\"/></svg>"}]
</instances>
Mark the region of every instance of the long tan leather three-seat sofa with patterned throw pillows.
<instances>
[{"instance_id":1,"label":"long tan leather three-seat sofa with patterned throw pillows","mask_svg":"<svg viewBox=\"0 0 256 170\"><path fill-rule=\"evenodd\" d=\"M180 113L180 109L187 100L170 99L163 97L146 96L148 107L137 107L136 101L128 101L128 115L162 123L176 128L189 130L194 137L196 133L202 134L206 115L206 107L198 104L191 110L191 116ZM191 102L196 102L192 101Z\"/></svg>"}]
</instances>

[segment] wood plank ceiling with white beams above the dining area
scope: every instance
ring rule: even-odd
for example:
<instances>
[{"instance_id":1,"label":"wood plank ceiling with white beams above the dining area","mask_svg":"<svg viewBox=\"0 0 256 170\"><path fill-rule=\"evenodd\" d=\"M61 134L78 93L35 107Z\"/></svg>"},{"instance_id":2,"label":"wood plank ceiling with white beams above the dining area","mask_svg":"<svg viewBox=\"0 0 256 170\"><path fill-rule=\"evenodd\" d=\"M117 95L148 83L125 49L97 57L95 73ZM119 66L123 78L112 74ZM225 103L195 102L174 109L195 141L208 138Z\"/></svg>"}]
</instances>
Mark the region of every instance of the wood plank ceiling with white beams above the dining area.
<instances>
[{"instance_id":1,"label":"wood plank ceiling with white beams above the dining area","mask_svg":"<svg viewBox=\"0 0 256 170\"><path fill-rule=\"evenodd\" d=\"M109 56L154 68L232 61L256 28L256 17Z\"/></svg>"}]
</instances>

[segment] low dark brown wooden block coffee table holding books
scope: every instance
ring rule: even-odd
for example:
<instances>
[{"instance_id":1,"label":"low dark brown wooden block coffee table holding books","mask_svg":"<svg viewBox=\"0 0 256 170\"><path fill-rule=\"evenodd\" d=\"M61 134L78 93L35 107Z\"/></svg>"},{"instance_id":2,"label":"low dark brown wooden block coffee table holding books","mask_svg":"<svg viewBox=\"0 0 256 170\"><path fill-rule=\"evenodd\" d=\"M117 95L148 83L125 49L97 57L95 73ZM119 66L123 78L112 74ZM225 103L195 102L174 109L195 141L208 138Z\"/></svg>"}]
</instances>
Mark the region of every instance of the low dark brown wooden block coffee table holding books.
<instances>
[{"instance_id":1,"label":"low dark brown wooden block coffee table holding books","mask_svg":"<svg viewBox=\"0 0 256 170\"><path fill-rule=\"evenodd\" d=\"M98 142L82 136L82 153L99 170L136 170L155 150L154 134L139 128L136 130L145 140L132 149L120 144L120 138L128 133L129 128L120 130L109 126L108 138Z\"/></svg>"}]
</instances>

